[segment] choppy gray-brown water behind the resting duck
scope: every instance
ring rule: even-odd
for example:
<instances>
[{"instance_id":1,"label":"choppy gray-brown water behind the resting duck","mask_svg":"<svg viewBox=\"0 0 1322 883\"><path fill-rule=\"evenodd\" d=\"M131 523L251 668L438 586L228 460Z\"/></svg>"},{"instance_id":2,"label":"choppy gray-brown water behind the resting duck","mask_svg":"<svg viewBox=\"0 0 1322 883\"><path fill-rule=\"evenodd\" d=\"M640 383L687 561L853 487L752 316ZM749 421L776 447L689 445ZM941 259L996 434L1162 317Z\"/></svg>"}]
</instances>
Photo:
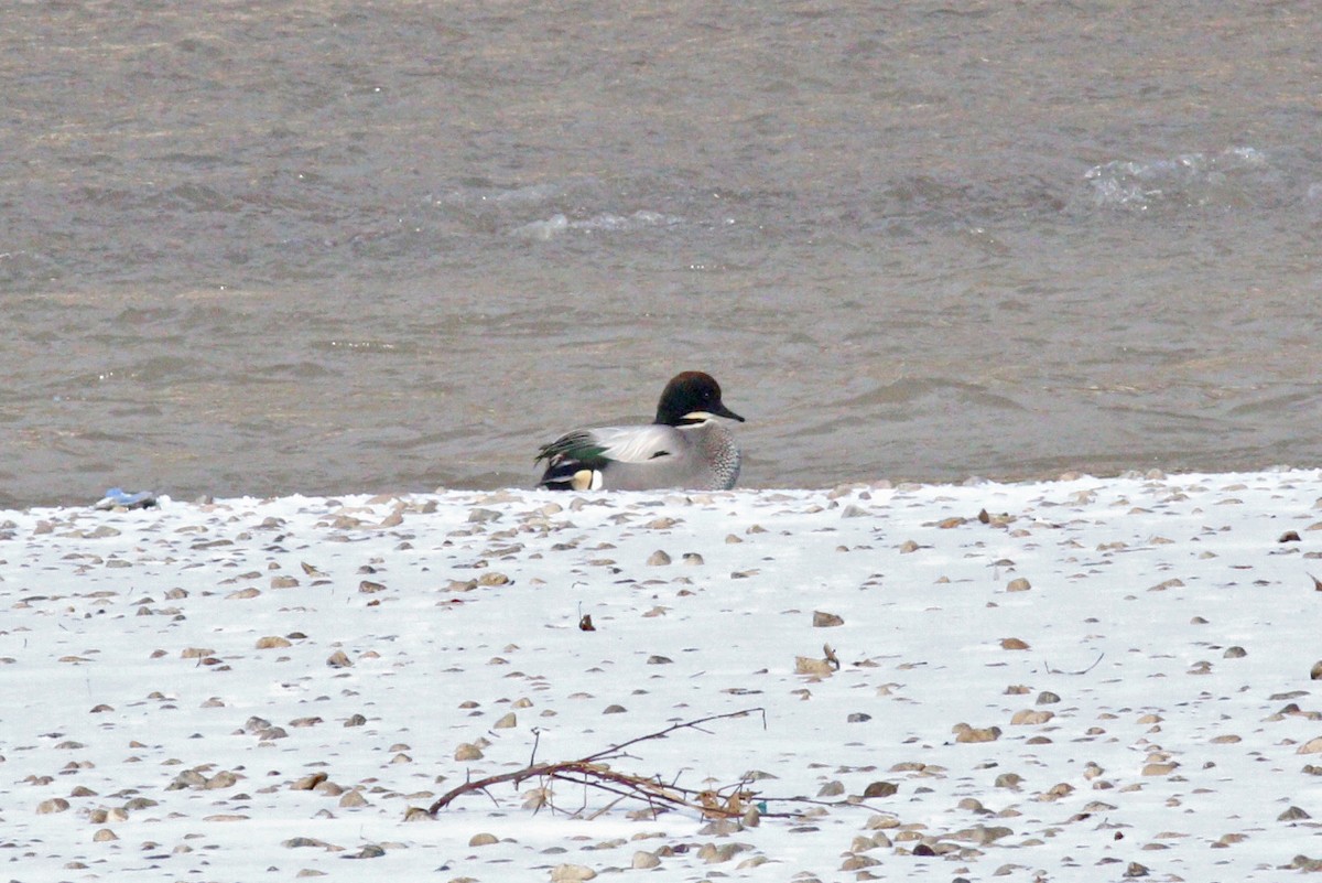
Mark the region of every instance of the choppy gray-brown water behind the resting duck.
<instances>
[{"instance_id":1,"label":"choppy gray-brown water behind the resting duck","mask_svg":"<svg viewBox=\"0 0 1322 883\"><path fill-rule=\"evenodd\" d=\"M11 4L0 504L1317 465L1307 3Z\"/></svg>"}]
</instances>

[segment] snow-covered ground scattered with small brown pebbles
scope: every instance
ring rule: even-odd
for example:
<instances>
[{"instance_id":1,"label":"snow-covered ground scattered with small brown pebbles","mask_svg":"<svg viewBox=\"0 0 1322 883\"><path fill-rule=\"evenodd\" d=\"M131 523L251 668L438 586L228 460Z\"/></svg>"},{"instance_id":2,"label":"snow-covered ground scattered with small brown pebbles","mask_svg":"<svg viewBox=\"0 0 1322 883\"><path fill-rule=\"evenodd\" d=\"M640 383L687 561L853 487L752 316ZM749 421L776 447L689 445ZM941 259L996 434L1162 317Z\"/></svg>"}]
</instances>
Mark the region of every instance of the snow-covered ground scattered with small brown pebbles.
<instances>
[{"instance_id":1,"label":"snow-covered ground scattered with small brown pebbles","mask_svg":"<svg viewBox=\"0 0 1322 883\"><path fill-rule=\"evenodd\" d=\"M0 512L0 878L1288 879L1322 867L1319 497L1311 471ZM563 783L534 812L526 781L406 821L743 709L612 768L746 780L760 820Z\"/></svg>"}]
</instances>

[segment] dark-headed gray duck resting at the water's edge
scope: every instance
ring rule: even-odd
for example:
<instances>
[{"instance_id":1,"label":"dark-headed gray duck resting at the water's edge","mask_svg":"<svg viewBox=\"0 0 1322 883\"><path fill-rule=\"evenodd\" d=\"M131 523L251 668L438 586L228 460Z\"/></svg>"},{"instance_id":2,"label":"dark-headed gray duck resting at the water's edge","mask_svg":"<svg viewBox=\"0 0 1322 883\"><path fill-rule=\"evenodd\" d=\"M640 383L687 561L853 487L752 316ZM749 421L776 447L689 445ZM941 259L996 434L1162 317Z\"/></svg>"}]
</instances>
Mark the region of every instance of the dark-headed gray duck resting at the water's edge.
<instances>
[{"instance_id":1,"label":"dark-headed gray duck resting at the water's edge","mask_svg":"<svg viewBox=\"0 0 1322 883\"><path fill-rule=\"evenodd\" d=\"M543 444L539 484L563 490L728 490L742 456L722 420L743 418L720 401L720 385L702 371L666 383L656 420L644 426L575 430Z\"/></svg>"}]
</instances>

